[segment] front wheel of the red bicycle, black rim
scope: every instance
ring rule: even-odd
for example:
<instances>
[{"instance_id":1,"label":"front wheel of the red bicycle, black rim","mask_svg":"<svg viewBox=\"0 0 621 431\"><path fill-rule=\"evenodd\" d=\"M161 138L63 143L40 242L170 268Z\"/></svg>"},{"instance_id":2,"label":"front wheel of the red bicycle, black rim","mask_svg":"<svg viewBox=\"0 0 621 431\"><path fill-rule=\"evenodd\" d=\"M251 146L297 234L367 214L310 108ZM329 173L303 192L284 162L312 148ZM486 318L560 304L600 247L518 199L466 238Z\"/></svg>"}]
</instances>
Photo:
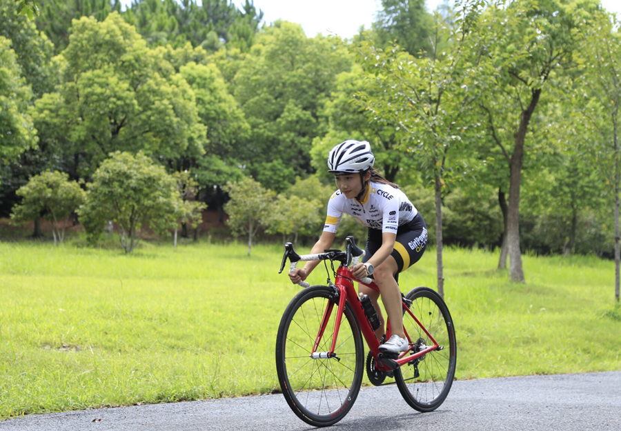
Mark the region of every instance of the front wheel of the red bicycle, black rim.
<instances>
[{"instance_id":1,"label":"front wheel of the red bicycle, black rim","mask_svg":"<svg viewBox=\"0 0 621 431\"><path fill-rule=\"evenodd\" d=\"M335 357L326 357L339 319L338 301L335 290L327 286L302 290L285 310L276 337L276 370L282 393L299 419L314 426L333 425L343 419L362 384L362 336L348 303ZM326 310L329 318L325 317ZM324 320L324 334L313 358L313 345Z\"/></svg>"}]
</instances>

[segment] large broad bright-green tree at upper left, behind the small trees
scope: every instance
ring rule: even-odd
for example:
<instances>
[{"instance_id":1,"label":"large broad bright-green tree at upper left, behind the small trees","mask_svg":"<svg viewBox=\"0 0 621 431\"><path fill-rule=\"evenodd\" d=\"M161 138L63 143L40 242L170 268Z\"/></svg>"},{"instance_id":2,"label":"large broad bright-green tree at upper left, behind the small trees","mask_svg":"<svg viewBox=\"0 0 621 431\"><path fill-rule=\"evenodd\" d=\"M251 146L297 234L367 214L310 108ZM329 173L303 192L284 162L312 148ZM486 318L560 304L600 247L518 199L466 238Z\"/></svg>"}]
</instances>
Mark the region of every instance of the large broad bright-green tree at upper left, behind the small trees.
<instances>
[{"instance_id":1,"label":"large broad bright-green tree at upper left, behind the small trees","mask_svg":"<svg viewBox=\"0 0 621 431\"><path fill-rule=\"evenodd\" d=\"M117 150L162 161L204 152L193 90L117 12L74 21L61 59L59 92L44 94L33 117L70 177L88 178Z\"/></svg>"}]
</instances>

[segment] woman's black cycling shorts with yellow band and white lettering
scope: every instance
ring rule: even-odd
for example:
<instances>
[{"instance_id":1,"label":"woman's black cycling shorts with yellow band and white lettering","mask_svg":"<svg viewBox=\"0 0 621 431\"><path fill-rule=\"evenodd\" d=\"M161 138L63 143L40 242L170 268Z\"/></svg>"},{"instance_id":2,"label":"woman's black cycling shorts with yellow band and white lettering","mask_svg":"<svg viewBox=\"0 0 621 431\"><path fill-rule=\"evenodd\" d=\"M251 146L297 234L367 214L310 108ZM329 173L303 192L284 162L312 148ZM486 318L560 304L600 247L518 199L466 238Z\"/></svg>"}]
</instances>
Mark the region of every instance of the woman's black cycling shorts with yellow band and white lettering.
<instances>
[{"instance_id":1,"label":"woman's black cycling shorts with yellow band and white lettering","mask_svg":"<svg viewBox=\"0 0 621 431\"><path fill-rule=\"evenodd\" d=\"M364 248L365 254L362 261L366 262L368 259L371 259L371 256L373 256L377 250L380 250L381 246L382 230L369 229L366 247ZM399 272L404 272L419 261L426 247L427 225L419 212L412 221L399 226L397 230L395 248L393 248L393 252L391 253L391 256L397 261L397 274Z\"/></svg>"}]
</instances>

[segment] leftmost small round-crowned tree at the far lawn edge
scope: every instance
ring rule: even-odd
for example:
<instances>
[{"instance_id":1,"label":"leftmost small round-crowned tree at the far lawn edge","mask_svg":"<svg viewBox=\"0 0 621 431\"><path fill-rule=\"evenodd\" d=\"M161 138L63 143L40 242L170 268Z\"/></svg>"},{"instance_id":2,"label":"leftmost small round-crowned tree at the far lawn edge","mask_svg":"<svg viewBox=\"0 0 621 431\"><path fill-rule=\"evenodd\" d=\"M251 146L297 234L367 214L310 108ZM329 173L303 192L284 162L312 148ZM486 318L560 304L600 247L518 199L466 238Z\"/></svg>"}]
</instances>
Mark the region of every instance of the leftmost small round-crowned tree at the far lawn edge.
<instances>
[{"instance_id":1,"label":"leftmost small round-crowned tree at the far lawn edge","mask_svg":"<svg viewBox=\"0 0 621 431\"><path fill-rule=\"evenodd\" d=\"M17 190L22 198L19 205L13 207L11 219L25 222L39 219L41 214L52 222L54 245L65 239L65 230L71 214L81 206L86 193L78 183L69 181L63 172L41 172L28 181L26 186Z\"/></svg>"}]
</instances>

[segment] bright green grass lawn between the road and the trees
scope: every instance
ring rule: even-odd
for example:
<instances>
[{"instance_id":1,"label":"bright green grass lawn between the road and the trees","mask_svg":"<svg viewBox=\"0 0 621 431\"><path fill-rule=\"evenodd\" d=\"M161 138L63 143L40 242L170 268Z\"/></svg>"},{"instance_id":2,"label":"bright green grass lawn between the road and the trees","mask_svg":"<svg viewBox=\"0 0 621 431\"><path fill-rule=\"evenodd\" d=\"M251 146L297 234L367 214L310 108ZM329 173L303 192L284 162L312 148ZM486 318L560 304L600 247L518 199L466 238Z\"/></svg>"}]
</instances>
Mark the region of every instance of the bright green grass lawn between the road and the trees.
<instances>
[{"instance_id":1,"label":"bright green grass lawn between the road and the trees","mask_svg":"<svg viewBox=\"0 0 621 431\"><path fill-rule=\"evenodd\" d=\"M298 289L277 274L281 245L246 251L0 243L0 419L278 390L276 331ZM612 261L525 256L515 284L497 258L444 253L457 379L621 370ZM309 281L325 279L319 266ZM435 250L400 285L435 287Z\"/></svg>"}]
</instances>

